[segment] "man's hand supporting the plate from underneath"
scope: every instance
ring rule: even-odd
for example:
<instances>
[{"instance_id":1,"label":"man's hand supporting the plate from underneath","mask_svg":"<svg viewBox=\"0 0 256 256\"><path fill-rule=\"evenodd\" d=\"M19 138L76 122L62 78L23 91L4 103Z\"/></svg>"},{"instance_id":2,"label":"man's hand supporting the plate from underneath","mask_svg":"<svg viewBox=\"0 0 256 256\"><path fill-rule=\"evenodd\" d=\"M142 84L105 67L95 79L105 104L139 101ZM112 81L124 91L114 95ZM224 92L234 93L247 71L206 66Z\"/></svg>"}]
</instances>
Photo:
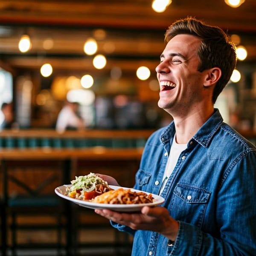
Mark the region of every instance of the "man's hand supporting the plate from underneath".
<instances>
[{"instance_id":1,"label":"man's hand supporting the plate from underneath","mask_svg":"<svg viewBox=\"0 0 256 256\"><path fill-rule=\"evenodd\" d=\"M141 212L115 212L109 209L95 209L95 212L111 221L134 230L151 230L175 241L179 224L164 207L143 207Z\"/></svg>"}]
</instances>

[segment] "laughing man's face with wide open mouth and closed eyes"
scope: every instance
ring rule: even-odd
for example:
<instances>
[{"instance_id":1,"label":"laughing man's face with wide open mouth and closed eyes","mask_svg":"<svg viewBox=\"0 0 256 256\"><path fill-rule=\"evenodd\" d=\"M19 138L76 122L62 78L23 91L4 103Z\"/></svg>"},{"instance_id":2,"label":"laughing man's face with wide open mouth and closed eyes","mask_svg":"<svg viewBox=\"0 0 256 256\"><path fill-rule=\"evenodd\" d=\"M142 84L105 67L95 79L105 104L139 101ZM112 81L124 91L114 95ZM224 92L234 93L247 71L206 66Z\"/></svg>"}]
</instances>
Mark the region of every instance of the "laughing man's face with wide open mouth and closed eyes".
<instances>
[{"instance_id":1,"label":"laughing man's face with wide open mouth and closed eyes","mask_svg":"<svg viewBox=\"0 0 256 256\"><path fill-rule=\"evenodd\" d=\"M176 35L163 50L156 67L160 84L158 106L167 112L187 111L203 97L204 72L197 70L200 43L201 39L193 35Z\"/></svg>"}]
</instances>

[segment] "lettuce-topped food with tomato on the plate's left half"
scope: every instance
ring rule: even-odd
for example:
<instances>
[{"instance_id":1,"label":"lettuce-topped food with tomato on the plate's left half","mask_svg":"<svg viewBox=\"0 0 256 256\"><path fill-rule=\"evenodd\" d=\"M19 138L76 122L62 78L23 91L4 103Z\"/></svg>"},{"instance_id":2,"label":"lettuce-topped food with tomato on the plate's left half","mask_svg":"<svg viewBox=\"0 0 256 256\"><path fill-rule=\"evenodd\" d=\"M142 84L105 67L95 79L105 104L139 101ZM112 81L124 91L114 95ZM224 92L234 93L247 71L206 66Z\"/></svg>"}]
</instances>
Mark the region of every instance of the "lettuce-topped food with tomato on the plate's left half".
<instances>
[{"instance_id":1,"label":"lettuce-topped food with tomato on the plate's left half","mask_svg":"<svg viewBox=\"0 0 256 256\"><path fill-rule=\"evenodd\" d=\"M91 172L71 180L71 186L67 187L66 193L71 198L90 200L110 190L112 189L105 180Z\"/></svg>"}]
</instances>

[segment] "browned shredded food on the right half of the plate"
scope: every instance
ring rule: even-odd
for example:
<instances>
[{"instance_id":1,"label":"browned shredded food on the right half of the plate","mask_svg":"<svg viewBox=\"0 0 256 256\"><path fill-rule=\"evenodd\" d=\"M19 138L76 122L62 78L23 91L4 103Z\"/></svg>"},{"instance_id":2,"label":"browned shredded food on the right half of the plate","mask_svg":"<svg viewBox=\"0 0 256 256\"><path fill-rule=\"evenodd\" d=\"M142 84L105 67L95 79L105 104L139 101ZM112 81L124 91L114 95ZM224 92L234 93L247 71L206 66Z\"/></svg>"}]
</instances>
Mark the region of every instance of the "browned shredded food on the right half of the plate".
<instances>
[{"instance_id":1,"label":"browned shredded food on the right half of the plate","mask_svg":"<svg viewBox=\"0 0 256 256\"><path fill-rule=\"evenodd\" d=\"M152 194L119 188L96 196L92 202L100 204L147 204L154 200Z\"/></svg>"}]
</instances>

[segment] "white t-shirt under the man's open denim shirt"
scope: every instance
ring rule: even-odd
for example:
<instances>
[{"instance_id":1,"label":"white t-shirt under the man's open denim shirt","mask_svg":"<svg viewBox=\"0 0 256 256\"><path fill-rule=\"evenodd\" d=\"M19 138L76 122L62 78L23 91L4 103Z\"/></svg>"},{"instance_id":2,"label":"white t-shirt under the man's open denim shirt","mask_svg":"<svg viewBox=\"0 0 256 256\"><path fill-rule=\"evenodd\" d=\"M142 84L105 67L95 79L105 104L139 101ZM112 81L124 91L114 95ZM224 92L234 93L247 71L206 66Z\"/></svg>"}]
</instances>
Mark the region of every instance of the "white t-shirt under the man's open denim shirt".
<instances>
[{"instance_id":1,"label":"white t-shirt under the man's open denim shirt","mask_svg":"<svg viewBox=\"0 0 256 256\"><path fill-rule=\"evenodd\" d=\"M168 158L168 161L166 163L166 169L165 169L164 174L163 174L163 180L162 180L160 193L163 191L163 188L165 186L165 183L166 183L167 179L172 174L173 169L175 168L175 166L177 164L177 160L178 160L181 152L183 150L185 150L186 148L187 148L187 144L178 144L176 142L176 134L175 134L174 138L172 140L172 145L171 145L171 149L170 149L169 158Z\"/></svg>"}]
</instances>

